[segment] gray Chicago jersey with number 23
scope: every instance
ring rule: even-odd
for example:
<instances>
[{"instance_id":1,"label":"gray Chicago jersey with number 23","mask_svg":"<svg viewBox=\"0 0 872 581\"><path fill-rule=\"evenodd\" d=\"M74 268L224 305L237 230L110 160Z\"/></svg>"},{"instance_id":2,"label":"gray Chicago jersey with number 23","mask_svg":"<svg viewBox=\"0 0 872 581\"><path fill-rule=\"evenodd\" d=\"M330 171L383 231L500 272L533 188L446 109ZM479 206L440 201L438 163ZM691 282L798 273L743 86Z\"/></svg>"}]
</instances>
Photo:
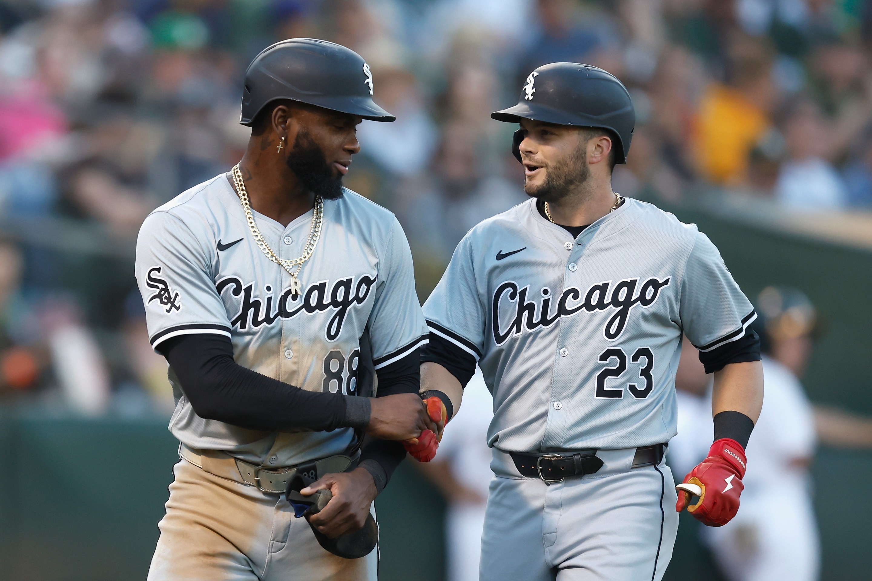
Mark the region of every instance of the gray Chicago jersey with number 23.
<instances>
[{"instance_id":1,"label":"gray Chicago jersey with number 23","mask_svg":"<svg viewBox=\"0 0 872 581\"><path fill-rule=\"evenodd\" d=\"M682 332L708 351L756 316L705 234L635 199L576 240L535 199L481 222L424 314L477 359L488 444L516 452L668 442Z\"/></svg>"}]
</instances>

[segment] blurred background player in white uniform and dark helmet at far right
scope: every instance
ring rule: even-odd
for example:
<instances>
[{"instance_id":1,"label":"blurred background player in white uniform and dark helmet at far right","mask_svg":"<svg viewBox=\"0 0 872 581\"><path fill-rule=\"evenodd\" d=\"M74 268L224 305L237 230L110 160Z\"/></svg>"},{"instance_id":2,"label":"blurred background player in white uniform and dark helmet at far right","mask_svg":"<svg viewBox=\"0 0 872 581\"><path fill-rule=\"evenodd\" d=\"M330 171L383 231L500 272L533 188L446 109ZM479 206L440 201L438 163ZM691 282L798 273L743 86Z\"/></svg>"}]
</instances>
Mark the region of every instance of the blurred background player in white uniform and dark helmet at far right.
<instances>
[{"instance_id":1,"label":"blurred background player in white uniform and dark helmet at far right","mask_svg":"<svg viewBox=\"0 0 872 581\"><path fill-rule=\"evenodd\" d=\"M704 530L703 537L732 581L814 581L821 561L808 474L817 440L814 409L795 370L772 357L773 341L767 336L769 328L779 339L783 330L793 338L807 337L814 326L814 307L800 294L773 287L764 290L757 307L766 399L748 443L752 468L743 479L742 510L731 523ZM773 313L772 307L781 312ZM767 316L767 311L776 316ZM778 315L787 316L777 321Z\"/></svg>"}]
</instances>

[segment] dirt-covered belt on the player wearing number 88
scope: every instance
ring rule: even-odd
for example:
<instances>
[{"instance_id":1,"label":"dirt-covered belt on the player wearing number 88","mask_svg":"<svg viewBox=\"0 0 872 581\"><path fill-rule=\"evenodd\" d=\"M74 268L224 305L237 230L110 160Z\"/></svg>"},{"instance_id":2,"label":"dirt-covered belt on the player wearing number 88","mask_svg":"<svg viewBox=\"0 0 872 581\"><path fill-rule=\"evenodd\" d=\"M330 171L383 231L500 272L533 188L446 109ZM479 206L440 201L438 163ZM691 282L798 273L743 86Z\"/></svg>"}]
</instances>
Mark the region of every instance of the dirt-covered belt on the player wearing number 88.
<instances>
[{"instance_id":1,"label":"dirt-covered belt on the player wearing number 88","mask_svg":"<svg viewBox=\"0 0 872 581\"><path fill-rule=\"evenodd\" d=\"M288 490L291 478L301 474L307 482L312 482L325 474L347 472L358 467L360 455L355 457L337 455L318 458L296 466L267 468L230 456L215 450L197 450L181 444L179 455L188 462L206 470L209 474L256 486L262 492L283 494Z\"/></svg>"}]
</instances>

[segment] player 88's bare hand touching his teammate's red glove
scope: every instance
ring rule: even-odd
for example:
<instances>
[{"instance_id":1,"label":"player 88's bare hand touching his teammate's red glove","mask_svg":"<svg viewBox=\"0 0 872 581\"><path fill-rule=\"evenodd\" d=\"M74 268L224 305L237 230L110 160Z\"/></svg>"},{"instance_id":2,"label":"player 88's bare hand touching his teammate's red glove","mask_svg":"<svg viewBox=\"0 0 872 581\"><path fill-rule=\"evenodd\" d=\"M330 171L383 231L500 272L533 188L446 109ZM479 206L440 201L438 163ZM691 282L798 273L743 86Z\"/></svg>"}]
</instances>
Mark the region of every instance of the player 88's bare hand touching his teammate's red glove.
<instances>
[{"instance_id":1,"label":"player 88's bare hand touching his teammate's red glove","mask_svg":"<svg viewBox=\"0 0 872 581\"><path fill-rule=\"evenodd\" d=\"M418 394L385 395L370 399L370 424L366 433L382 440L410 440L426 429L434 434L436 422L430 419L426 404Z\"/></svg>"}]
</instances>

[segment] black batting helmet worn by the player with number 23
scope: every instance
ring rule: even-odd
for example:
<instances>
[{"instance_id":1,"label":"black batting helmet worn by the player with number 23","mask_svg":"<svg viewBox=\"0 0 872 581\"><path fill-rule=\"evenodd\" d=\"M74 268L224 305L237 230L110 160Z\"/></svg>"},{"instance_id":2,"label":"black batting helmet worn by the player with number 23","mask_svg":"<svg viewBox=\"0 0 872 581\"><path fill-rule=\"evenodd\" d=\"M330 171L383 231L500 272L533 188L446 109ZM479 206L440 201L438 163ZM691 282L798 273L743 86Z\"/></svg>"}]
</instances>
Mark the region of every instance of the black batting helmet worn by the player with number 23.
<instances>
[{"instance_id":1,"label":"black batting helmet worn by the player with number 23","mask_svg":"<svg viewBox=\"0 0 872 581\"><path fill-rule=\"evenodd\" d=\"M610 72L589 64L543 64L531 72L518 105L491 113L497 121L520 123L533 119L557 125L600 127L613 132L615 163L627 163L636 111L630 93ZM514 157L521 161L523 135L515 132Z\"/></svg>"}]
</instances>

